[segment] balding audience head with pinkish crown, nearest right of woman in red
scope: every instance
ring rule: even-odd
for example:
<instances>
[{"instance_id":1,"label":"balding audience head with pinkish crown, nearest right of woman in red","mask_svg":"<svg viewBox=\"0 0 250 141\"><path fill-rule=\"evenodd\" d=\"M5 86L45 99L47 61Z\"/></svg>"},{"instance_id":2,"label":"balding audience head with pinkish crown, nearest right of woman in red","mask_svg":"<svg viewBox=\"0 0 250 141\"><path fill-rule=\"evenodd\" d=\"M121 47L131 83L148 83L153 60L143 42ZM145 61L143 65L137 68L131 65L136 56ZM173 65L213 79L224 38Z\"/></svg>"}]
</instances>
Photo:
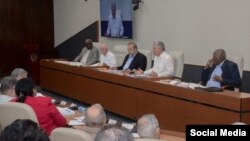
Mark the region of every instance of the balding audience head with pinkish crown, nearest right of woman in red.
<instances>
[{"instance_id":1,"label":"balding audience head with pinkish crown, nearest right of woman in red","mask_svg":"<svg viewBox=\"0 0 250 141\"><path fill-rule=\"evenodd\" d=\"M89 127L103 127L106 123L106 113L100 104L87 108L84 122Z\"/></svg>"}]
</instances>

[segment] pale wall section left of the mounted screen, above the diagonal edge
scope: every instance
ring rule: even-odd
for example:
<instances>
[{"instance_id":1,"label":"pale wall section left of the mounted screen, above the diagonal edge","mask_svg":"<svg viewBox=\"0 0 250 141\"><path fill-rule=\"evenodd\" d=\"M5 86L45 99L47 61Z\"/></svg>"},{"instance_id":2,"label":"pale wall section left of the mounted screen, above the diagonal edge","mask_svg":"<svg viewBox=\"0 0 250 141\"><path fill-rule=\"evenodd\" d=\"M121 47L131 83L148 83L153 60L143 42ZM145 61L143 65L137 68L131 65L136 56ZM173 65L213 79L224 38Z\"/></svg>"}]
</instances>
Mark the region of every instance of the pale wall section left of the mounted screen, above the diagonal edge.
<instances>
[{"instance_id":1,"label":"pale wall section left of the mounted screen, above the diagonal edge","mask_svg":"<svg viewBox=\"0 0 250 141\"><path fill-rule=\"evenodd\" d=\"M99 0L54 0L55 46L99 19Z\"/></svg>"}]
</instances>

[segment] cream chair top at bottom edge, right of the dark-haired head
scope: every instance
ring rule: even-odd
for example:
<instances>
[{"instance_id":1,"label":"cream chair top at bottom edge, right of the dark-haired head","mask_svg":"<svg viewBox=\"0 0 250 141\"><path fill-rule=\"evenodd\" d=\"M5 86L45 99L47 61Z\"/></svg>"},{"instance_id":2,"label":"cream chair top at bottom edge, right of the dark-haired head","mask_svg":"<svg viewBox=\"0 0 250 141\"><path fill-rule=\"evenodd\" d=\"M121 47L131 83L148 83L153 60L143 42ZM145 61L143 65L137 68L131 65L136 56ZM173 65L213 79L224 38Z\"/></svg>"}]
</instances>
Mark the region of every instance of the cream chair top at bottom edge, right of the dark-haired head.
<instances>
[{"instance_id":1,"label":"cream chair top at bottom edge, right of the dark-haired head","mask_svg":"<svg viewBox=\"0 0 250 141\"><path fill-rule=\"evenodd\" d=\"M72 128L59 127L50 135L51 141L90 141L90 135L84 131Z\"/></svg>"}]
</instances>

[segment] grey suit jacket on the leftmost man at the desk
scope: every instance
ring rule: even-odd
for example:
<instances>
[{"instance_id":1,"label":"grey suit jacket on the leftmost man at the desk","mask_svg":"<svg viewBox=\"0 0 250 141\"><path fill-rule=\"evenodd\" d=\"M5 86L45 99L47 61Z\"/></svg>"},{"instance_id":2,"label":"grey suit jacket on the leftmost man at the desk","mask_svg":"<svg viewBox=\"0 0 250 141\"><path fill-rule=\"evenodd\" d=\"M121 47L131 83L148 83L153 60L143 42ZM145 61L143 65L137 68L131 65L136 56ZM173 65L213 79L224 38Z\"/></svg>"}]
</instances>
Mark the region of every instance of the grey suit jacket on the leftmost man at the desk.
<instances>
[{"instance_id":1,"label":"grey suit jacket on the leftmost man at the desk","mask_svg":"<svg viewBox=\"0 0 250 141\"><path fill-rule=\"evenodd\" d=\"M81 61L82 57L86 54L87 51L88 51L87 47L83 47L81 53L74 59L74 61L78 62ZM92 49L90 49L86 65L93 65L98 62L99 62L99 50L97 47L93 46Z\"/></svg>"}]
</instances>

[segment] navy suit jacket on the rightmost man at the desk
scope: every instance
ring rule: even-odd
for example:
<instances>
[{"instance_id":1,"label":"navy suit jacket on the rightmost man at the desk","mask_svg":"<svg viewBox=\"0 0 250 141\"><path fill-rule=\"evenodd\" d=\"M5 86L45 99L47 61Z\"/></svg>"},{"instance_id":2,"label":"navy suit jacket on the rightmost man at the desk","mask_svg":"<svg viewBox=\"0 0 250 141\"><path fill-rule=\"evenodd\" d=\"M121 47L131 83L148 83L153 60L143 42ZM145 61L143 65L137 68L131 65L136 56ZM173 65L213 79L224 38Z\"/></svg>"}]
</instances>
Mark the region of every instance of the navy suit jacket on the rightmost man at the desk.
<instances>
[{"instance_id":1,"label":"navy suit jacket on the rightmost man at the desk","mask_svg":"<svg viewBox=\"0 0 250 141\"><path fill-rule=\"evenodd\" d=\"M207 81L210 79L215 66L204 69L202 71L202 84L206 85ZM225 62L221 66L222 69L222 78L223 82L221 82L221 86L229 85L231 87L240 87L241 85L241 78L239 69L236 63L225 60Z\"/></svg>"}]
</instances>

